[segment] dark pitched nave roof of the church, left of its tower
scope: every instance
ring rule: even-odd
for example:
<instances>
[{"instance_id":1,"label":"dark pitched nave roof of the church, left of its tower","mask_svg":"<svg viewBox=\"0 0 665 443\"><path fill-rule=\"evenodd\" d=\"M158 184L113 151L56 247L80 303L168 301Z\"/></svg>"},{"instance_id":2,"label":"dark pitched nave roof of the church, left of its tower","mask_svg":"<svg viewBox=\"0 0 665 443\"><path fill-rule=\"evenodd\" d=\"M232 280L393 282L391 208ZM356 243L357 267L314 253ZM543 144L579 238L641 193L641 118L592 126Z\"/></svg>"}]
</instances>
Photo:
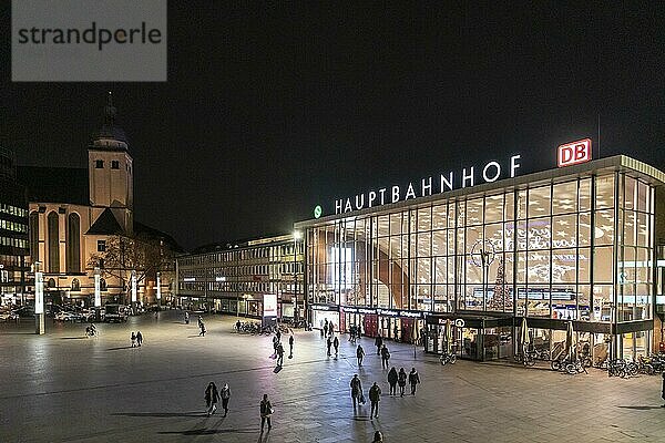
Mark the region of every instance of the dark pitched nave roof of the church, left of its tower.
<instances>
[{"instance_id":1,"label":"dark pitched nave roof of the church, left of its tower","mask_svg":"<svg viewBox=\"0 0 665 443\"><path fill-rule=\"evenodd\" d=\"M25 186L32 203L90 205L88 169L18 166L17 182Z\"/></svg>"}]
</instances>

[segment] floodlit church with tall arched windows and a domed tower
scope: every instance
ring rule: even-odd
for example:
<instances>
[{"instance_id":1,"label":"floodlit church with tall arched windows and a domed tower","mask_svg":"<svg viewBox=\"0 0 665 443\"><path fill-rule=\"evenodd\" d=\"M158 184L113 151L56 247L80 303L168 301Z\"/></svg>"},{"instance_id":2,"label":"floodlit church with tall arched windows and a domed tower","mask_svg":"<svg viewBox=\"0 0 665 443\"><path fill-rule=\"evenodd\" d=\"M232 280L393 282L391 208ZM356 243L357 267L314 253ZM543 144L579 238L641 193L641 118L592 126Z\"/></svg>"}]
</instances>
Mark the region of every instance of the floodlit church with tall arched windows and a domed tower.
<instances>
[{"instance_id":1,"label":"floodlit church with tall arched windows and a domed tower","mask_svg":"<svg viewBox=\"0 0 665 443\"><path fill-rule=\"evenodd\" d=\"M109 94L104 124L88 147L88 168L18 168L30 202L30 258L42 262L47 299L53 302L91 305L94 268L100 266L102 300L129 303L127 269L104 264L103 259L109 248L121 245L120 238L141 236L166 250L180 249L168 235L134 222L133 159L115 117ZM129 256L130 251L123 254ZM153 267L141 279L137 301L154 302L158 270ZM168 278L162 279L165 296L168 282Z\"/></svg>"}]
</instances>

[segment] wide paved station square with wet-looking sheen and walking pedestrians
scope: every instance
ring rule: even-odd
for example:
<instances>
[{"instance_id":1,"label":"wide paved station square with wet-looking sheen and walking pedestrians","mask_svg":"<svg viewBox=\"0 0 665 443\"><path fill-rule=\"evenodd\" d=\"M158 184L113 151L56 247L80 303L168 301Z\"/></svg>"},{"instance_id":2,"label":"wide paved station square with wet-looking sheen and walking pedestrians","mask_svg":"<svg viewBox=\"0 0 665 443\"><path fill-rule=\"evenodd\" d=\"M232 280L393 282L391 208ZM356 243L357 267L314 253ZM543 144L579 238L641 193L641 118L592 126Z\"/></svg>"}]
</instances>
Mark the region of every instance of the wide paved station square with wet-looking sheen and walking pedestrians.
<instances>
[{"instance_id":1,"label":"wide paved station square with wet-looking sheen and walking pedestrians","mask_svg":"<svg viewBox=\"0 0 665 443\"><path fill-rule=\"evenodd\" d=\"M327 358L318 331L295 333L293 359L275 371L268 337L233 332L235 318L204 316L184 324L177 311L100 324L0 324L0 442L663 442L661 378L565 375L509 364L458 361L388 343L391 364L416 367L416 396L391 398L374 340L362 339L365 365L341 339ZM130 347L141 330L144 344ZM287 352L288 352L288 346ZM365 395L383 391L379 419L369 406L354 415L349 380L358 373ZM227 382L228 416L205 414L204 389ZM258 403L268 393L273 430L260 434Z\"/></svg>"}]
</instances>

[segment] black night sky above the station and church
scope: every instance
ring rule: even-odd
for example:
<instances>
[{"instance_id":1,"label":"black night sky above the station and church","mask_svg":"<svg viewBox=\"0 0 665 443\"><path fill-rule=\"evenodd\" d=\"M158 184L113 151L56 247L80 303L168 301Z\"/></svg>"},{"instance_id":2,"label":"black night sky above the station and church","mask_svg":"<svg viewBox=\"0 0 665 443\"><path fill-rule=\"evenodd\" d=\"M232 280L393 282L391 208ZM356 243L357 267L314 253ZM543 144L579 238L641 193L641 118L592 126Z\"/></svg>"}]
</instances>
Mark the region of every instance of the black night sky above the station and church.
<instances>
[{"instance_id":1,"label":"black night sky above the station and church","mask_svg":"<svg viewBox=\"0 0 665 443\"><path fill-rule=\"evenodd\" d=\"M135 218L187 249L513 153L521 174L579 138L597 157L598 121L601 156L665 169L662 3L226 3L170 1L166 83L12 83L2 2L0 144L21 165L85 167L112 91Z\"/></svg>"}]
</instances>

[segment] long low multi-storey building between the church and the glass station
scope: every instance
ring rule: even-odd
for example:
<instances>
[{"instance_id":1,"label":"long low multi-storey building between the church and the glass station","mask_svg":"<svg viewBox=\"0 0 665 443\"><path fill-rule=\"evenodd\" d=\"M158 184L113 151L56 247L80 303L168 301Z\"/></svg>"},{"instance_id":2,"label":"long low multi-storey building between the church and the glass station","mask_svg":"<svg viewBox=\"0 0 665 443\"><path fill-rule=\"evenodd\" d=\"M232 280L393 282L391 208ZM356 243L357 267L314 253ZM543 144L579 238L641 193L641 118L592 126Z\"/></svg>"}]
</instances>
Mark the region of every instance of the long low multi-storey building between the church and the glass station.
<instances>
[{"instance_id":1,"label":"long low multi-storey building between the church and the glass station","mask_svg":"<svg viewBox=\"0 0 665 443\"><path fill-rule=\"evenodd\" d=\"M303 318L303 247L284 235L200 248L176 259L177 296L186 307L256 319L276 296L277 318Z\"/></svg>"}]
</instances>

